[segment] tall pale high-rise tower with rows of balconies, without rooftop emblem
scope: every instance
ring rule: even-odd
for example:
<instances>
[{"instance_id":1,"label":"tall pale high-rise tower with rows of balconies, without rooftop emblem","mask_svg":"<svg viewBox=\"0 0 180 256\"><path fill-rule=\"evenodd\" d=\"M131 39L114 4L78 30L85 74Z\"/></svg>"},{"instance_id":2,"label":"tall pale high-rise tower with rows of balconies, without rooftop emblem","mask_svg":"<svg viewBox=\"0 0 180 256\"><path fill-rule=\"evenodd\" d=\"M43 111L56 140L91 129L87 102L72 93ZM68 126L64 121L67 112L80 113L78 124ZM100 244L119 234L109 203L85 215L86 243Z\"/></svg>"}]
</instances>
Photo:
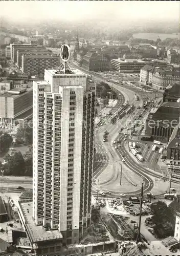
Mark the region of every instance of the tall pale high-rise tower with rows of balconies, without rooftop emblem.
<instances>
[{"instance_id":1,"label":"tall pale high-rise tower with rows of balconies, without rooftop emblem","mask_svg":"<svg viewBox=\"0 0 180 256\"><path fill-rule=\"evenodd\" d=\"M33 82L33 218L74 244L91 224L96 86L62 65Z\"/></svg>"}]
</instances>

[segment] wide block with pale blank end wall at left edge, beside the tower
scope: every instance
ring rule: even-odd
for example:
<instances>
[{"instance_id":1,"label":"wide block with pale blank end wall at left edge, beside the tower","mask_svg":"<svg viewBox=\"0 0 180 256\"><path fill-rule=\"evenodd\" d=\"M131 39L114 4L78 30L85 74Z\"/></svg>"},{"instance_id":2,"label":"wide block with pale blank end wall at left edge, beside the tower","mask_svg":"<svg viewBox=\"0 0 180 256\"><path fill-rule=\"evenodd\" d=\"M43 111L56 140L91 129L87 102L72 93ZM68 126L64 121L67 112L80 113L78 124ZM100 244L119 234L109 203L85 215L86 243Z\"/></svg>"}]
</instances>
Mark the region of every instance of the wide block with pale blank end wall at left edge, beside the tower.
<instances>
[{"instance_id":1,"label":"wide block with pale blank end wall at left edge, beside the tower","mask_svg":"<svg viewBox=\"0 0 180 256\"><path fill-rule=\"evenodd\" d=\"M14 120L24 122L32 118L33 90L31 88L13 88L0 94L0 119L3 124Z\"/></svg>"}]
</instances>

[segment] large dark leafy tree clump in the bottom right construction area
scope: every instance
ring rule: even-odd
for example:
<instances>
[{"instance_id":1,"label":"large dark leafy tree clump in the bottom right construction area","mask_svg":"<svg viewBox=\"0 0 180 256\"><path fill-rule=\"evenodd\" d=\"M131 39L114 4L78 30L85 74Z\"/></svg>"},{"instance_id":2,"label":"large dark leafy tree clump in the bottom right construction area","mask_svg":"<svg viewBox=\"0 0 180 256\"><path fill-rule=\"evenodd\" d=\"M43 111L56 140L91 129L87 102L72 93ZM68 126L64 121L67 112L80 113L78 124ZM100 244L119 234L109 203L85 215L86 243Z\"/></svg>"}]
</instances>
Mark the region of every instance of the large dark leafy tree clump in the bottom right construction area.
<instances>
[{"instance_id":1,"label":"large dark leafy tree clump in the bottom right construction area","mask_svg":"<svg viewBox=\"0 0 180 256\"><path fill-rule=\"evenodd\" d=\"M152 223L154 224L154 233L158 238L173 236L175 216L173 209L166 203L158 201L150 205L152 211Z\"/></svg>"}]
</instances>

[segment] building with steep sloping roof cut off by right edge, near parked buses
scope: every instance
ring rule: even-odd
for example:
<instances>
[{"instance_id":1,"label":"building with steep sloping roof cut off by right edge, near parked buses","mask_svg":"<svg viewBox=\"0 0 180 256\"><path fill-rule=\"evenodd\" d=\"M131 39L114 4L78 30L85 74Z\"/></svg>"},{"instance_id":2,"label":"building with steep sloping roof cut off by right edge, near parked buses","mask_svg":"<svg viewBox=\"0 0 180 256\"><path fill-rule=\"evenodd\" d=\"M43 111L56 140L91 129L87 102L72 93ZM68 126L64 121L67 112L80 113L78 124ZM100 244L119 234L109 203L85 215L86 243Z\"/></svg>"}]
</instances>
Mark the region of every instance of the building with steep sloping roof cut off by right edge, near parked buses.
<instances>
[{"instance_id":1,"label":"building with steep sloping roof cut off by right edge, near parked buses","mask_svg":"<svg viewBox=\"0 0 180 256\"><path fill-rule=\"evenodd\" d=\"M174 127L167 145L167 164L180 165L180 123Z\"/></svg>"}]
</instances>

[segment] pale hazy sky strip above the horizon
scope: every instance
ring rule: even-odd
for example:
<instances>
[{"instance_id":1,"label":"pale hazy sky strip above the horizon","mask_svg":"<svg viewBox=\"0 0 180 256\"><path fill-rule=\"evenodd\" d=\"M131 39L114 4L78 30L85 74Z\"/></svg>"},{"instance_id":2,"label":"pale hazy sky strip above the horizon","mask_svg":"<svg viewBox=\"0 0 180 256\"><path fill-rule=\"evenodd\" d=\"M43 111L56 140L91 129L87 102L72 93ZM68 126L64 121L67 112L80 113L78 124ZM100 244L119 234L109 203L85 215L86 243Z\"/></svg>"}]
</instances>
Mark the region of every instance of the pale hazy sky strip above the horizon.
<instances>
[{"instance_id":1,"label":"pale hazy sky strip above the horizon","mask_svg":"<svg viewBox=\"0 0 180 256\"><path fill-rule=\"evenodd\" d=\"M14 19L179 19L178 1L0 1L0 15Z\"/></svg>"}]
</instances>

